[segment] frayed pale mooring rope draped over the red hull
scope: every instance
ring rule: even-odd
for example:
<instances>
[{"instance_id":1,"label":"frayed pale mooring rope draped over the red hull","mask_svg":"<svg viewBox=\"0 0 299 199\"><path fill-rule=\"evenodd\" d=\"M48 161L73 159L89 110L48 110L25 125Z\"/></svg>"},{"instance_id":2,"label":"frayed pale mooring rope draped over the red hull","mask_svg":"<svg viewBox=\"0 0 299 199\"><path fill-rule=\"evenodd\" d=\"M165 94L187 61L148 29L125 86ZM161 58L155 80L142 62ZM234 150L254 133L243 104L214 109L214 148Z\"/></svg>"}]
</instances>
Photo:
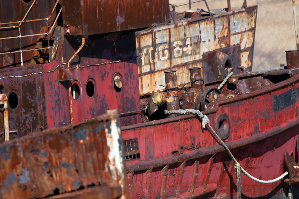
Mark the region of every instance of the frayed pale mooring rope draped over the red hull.
<instances>
[{"instance_id":1,"label":"frayed pale mooring rope draped over the red hull","mask_svg":"<svg viewBox=\"0 0 299 199\"><path fill-rule=\"evenodd\" d=\"M225 78L226 79L226 78ZM248 178L259 182L259 183L274 183L277 182L279 180L281 180L282 178L284 178L288 172L284 172L281 176L279 176L278 178L275 178L273 180L260 180L258 178L253 177L252 175L250 175L249 173L247 173L247 171L245 171L241 166L240 163L235 159L234 155L230 152L230 149L225 145L225 143L221 140L221 138L217 135L217 133L214 131L214 129L211 127L210 125L210 121L209 118L202 114L199 110L194 110L194 109L178 109L178 110L164 110L164 113L166 114L186 114L186 113L192 113L194 115L197 115L199 118L202 119L202 128L205 128L206 126L211 130L211 132L213 133L213 135L217 138L217 141L219 141L221 143L221 145L225 148L225 150L227 150L227 152L229 153L231 159L234 161L235 163L235 169L236 169L236 173L237 173L237 187L238 187L238 198L241 198L241 175L240 175L240 171L243 172L243 174L245 174Z\"/></svg>"}]
</instances>

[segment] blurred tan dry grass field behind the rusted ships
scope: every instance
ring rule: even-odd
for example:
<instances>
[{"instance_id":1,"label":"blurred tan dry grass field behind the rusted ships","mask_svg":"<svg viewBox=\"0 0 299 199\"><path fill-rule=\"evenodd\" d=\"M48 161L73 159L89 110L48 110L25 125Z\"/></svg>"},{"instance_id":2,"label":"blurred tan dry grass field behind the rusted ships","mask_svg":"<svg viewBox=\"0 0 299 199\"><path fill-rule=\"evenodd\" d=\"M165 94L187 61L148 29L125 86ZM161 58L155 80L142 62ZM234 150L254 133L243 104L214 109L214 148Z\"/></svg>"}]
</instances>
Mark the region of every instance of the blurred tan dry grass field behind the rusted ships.
<instances>
[{"instance_id":1,"label":"blurred tan dry grass field behind the rusted ships","mask_svg":"<svg viewBox=\"0 0 299 199\"><path fill-rule=\"evenodd\" d=\"M194 2L196 0L191 0ZM175 5L188 0L169 0ZM210 9L227 7L226 0L207 0ZM231 0L231 7L241 7L243 0ZM254 41L253 71L286 65L286 50L296 50L292 0L247 0L247 6L258 5ZM192 9L204 8L204 2L192 4ZM299 23L299 1L297 1ZM188 10L189 5L177 7L176 11Z\"/></svg>"}]
</instances>

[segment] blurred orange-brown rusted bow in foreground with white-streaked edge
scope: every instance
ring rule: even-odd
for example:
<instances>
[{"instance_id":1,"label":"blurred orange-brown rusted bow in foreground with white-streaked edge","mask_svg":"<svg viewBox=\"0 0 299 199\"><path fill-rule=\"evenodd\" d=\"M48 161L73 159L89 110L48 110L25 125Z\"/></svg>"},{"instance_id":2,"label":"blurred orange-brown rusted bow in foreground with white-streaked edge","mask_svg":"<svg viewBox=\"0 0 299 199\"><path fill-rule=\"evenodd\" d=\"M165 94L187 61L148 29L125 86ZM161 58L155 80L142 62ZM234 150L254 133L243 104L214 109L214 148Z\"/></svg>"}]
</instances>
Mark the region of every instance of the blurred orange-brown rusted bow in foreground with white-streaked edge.
<instances>
[{"instance_id":1,"label":"blurred orange-brown rusted bow in foreground with white-streaked edge","mask_svg":"<svg viewBox=\"0 0 299 199\"><path fill-rule=\"evenodd\" d=\"M109 111L89 122L2 143L1 197L44 198L98 186L115 187L92 190L111 198L123 195L126 178L119 127L117 112Z\"/></svg>"}]
</instances>

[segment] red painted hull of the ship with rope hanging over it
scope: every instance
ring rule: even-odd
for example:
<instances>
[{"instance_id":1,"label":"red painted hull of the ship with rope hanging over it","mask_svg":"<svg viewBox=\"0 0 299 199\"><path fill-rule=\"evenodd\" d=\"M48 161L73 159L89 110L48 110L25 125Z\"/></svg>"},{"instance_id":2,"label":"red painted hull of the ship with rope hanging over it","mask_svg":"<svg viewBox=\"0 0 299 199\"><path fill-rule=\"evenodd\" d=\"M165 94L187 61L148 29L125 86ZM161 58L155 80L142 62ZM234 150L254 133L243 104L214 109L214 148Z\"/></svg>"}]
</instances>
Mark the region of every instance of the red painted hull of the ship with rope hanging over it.
<instances>
[{"instance_id":1,"label":"red painted hull of the ship with rope hanging over it","mask_svg":"<svg viewBox=\"0 0 299 199\"><path fill-rule=\"evenodd\" d=\"M240 165L262 180L286 171L284 152L298 139L299 77L219 102L203 111L215 127L220 113L230 117L225 144ZM193 115L122 128L123 139L138 138L140 159L126 162L131 198L236 198L234 163L211 132ZM282 197L287 184L260 184L242 174L242 197ZM294 184L295 186L296 184Z\"/></svg>"}]
</instances>

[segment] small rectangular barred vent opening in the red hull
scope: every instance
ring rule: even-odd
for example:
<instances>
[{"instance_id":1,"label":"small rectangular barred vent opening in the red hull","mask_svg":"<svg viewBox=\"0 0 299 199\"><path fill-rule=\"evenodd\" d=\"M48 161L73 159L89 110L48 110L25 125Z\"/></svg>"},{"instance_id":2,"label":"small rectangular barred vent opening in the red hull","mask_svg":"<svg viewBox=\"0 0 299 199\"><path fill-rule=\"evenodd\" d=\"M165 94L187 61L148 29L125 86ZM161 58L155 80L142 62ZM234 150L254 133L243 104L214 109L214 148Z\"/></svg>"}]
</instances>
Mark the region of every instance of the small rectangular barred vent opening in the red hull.
<instances>
[{"instance_id":1,"label":"small rectangular barred vent opening in the red hull","mask_svg":"<svg viewBox=\"0 0 299 199\"><path fill-rule=\"evenodd\" d=\"M123 143L126 160L135 160L140 158L137 138L124 140Z\"/></svg>"}]
</instances>

